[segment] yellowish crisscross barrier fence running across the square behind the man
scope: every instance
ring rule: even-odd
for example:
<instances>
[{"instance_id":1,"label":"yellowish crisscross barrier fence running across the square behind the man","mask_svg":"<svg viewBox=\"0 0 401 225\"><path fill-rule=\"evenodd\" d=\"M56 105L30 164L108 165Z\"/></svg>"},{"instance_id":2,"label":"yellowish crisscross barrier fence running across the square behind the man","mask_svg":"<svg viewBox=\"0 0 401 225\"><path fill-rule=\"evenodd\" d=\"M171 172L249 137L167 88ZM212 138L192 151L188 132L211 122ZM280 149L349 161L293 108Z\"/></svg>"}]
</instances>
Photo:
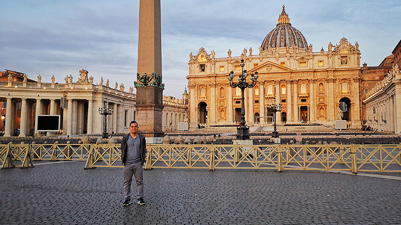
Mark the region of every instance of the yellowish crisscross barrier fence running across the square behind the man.
<instances>
[{"instance_id":1,"label":"yellowish crisscross barrier fence running across the square behind the man","mask_svg":"<svg viewBox=\"0 0 401 225\"><path fill-rule=\"evenodd\" d=\"M122 167L120 144L2 144L2 168L33 160L86 160L85 169ZM398 145L148 144L145 169L199 168L401 172Z\"/></svg>"}]
</instances>

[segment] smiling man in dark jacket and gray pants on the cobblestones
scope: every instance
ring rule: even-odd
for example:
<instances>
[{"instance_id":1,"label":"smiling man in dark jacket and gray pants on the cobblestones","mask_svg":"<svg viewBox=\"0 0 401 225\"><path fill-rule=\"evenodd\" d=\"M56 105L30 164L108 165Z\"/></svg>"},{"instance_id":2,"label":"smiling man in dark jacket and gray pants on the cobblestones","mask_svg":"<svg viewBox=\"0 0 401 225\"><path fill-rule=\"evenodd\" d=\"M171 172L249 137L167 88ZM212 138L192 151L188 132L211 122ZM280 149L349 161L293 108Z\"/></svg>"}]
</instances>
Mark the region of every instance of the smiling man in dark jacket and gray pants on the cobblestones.
<instances>
[{"instance_id":1,"label":"smiling man in dark jacket and gray pants on the cobblestones","mask_svg":"<svg viewBox=\"0 0 401 225\"><path fill-rule=\"evenodd\" d=\"M135 176L138 204L145 204L143 201L143 164L146 154L145 136L138 134L138 123L131 121L130 134L125 135L121 141L121 161L124 165L124 195L126 206L131 201L131 182Z\"/></svg>"}]
</instances>

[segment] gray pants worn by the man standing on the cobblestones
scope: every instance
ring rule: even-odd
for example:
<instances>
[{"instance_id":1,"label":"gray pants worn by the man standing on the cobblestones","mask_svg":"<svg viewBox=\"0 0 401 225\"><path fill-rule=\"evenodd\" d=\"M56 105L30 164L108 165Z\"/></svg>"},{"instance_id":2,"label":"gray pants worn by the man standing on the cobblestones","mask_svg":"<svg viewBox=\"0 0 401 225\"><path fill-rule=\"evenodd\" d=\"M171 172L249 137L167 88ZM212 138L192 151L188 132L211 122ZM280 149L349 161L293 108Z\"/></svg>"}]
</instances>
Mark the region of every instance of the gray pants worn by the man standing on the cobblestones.
<instances>
[{"instance_id":1,"label":"gray pants worn by the man standing on the cobblestones","mask_svg":"<svg viewBox=\"0 0 401 225\"><path fill-rule=\"evenodd\" d=\"M132 175L135 176L137 199L143 198L143 167L141 162L124 165L124 195L131 197Z\"/></svg>"}]
</instances>

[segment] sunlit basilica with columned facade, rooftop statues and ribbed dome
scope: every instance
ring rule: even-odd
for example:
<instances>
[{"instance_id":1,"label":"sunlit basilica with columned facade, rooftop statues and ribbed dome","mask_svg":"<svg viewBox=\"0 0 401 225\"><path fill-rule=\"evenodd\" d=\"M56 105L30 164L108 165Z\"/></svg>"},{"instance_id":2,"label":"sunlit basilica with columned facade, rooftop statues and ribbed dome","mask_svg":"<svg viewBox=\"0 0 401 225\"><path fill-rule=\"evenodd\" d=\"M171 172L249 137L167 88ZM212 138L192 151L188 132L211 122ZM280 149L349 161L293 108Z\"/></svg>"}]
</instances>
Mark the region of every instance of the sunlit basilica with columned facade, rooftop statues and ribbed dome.
<instances>
[{"instance_id":1,"label":"sunlit basilica with columned facade, rooftop statues and ribbed dome","mask_svg":"<svg viewBox=\"0 0 401 225\"><path fill-rule=\"evenodd\" d=\"M198 125L239 124L241 89L231 88L228 74L234 71L238 80L241 60L248 74L258 72L253 88L245 89L245 115L248 125L272 122L268 104L282 104L277 123L319 123L334 125L337 111L352 128L361 127L361 67L358 43L352 45L345 37L338 44L328 43L313 52L305 37L289 23L284 10L259 47L234 57L215 58L203 47L190 54L189 61L189 122ZM248 77L249 81L249 77Z\"/></svg>"}]
</instances>

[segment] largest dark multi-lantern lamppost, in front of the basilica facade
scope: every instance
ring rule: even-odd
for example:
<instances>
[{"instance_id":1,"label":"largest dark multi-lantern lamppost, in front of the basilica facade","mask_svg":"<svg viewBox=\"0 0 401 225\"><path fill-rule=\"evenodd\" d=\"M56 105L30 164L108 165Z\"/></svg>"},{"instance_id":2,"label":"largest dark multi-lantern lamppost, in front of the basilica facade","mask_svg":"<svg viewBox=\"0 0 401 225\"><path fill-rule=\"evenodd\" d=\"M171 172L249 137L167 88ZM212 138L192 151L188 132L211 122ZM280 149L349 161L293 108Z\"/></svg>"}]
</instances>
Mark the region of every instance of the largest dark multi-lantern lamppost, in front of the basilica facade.
<instances>
[{"instance_id":1,"label":"largest dark multi-lantern lamppost, in front of the basilica facade","mask_svg":"<svg viewBox=\"0 0 401 225\"><path fill-rule=\"evenodd\" d=\"M245 88L249 87L252 88L253 86L256 85L256 80L258 80L258 72L255 72L255 74L250 74L251 75L251 81L252 83L247 83L246 82L246 77L248 76L248 73L246 73L246 70L244 70L244 60L241 60L240 66L242 68L242 73L240 74L238 78L238 83L232 82L234 79L234 71L231 71L228 80L230 81L230 86L231 87L239 87L241 88L241 126L238 126L236 128L237 134L236 134L236 139L249 139L249 127L245 126L245 104L244 104L244 90Z\"/></svg>"}]
</instances>

